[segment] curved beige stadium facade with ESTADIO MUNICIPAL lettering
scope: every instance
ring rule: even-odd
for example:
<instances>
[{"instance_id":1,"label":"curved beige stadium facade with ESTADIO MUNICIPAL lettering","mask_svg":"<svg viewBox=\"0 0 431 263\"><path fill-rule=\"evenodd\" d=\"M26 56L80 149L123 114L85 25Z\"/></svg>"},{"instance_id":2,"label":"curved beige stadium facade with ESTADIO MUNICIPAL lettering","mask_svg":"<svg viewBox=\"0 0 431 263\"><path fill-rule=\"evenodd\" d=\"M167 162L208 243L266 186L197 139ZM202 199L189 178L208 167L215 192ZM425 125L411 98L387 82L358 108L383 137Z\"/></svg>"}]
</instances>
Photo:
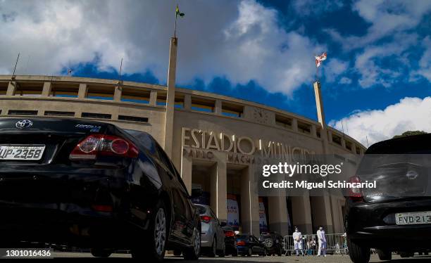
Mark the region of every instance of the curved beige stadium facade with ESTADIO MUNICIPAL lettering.
<instances>
[{"instance_id":1,"label":"curved beige stadium facade with ESTADIO MUNICIPAL lettering","mask_svg":"<svg viewBox=\"0 0 431 263\"><path fill-rule=\"evenodd\" d=\"M167 97L167 87L154 84L0 76L1 117L74 117L146 131L170 147L188 190L203 188L204 202L217 217L227 220L236 213L244 232L258 234L266 227L287 234L299 226L311 233L318 225L327 233L344 232L342 195L260 197L254 164L295 152L350 154L345 169L353 175L365 150L361 143L322 122L250 101L179 88L174 105L167 105ZM167 122L172 122L168 132Z\"/></svg>"}]
</instances>

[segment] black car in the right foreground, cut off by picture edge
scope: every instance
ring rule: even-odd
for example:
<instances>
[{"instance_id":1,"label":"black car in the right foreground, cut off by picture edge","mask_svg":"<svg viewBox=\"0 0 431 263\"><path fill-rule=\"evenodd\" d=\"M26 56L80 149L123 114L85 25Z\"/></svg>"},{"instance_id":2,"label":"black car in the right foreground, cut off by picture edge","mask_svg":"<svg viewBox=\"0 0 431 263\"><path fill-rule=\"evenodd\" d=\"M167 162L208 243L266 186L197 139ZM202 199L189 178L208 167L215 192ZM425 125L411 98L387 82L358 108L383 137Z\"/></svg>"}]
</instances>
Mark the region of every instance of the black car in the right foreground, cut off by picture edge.
<instances>
[{"instance_id":1,"label":"black car in the right foreground, cut off by picture edge","mask_svg":"<svg viewBox=\"0 0 431 263\"><path fill-rule=\"evenodd\" d=\"M382 260L392 252L410 257L431 249L431 134L375 143L352 182L376 181L377 188L351 188L344 224L353 262Z\"/></svg>"}]
</instances>

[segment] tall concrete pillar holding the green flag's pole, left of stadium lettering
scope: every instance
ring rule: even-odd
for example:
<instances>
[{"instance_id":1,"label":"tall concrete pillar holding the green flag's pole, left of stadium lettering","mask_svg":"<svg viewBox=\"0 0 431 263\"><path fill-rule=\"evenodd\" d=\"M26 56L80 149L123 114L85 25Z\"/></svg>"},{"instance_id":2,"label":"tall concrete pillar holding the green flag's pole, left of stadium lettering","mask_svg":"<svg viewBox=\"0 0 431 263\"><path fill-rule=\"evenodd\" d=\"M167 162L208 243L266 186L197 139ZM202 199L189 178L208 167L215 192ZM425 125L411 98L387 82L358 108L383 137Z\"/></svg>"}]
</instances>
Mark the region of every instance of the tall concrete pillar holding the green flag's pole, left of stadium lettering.
<instances>
[{"instance_id":1,"label":"tall concrete pillar holding the green flag's pole, left of stadium lettering","mask_svg":"<svg viewBox=\"0 0 431 263\"><path fill-rule=\"evenodd\" d=\"M172 158L173 121L175 110L175 75L177 70L177 44L176 37L170 38L169 68L168 68L168 96L166 98L165 118L165 152Z\"/></svg>"}]
</instances>

